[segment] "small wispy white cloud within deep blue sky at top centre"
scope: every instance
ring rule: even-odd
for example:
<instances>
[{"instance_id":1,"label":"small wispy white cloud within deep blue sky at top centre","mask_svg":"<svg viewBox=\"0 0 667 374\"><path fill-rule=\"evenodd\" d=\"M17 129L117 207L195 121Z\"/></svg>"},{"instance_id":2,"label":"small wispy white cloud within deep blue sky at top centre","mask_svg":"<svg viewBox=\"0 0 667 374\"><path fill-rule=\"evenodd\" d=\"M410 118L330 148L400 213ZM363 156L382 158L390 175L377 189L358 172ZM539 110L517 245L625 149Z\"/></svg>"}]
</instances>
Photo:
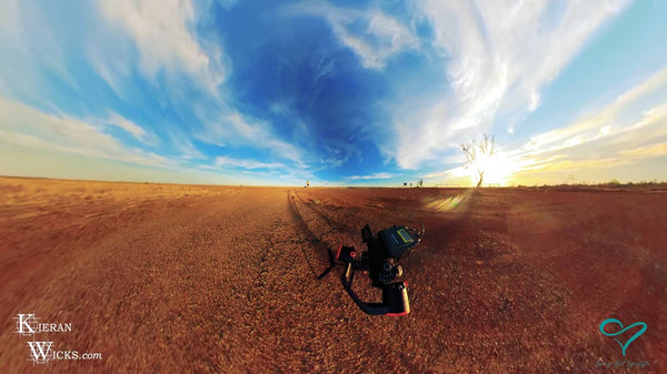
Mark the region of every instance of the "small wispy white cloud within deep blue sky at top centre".
<instances>
[{"instance_id":1,"label":"small wispy white cloud within deep blue sky at top centre","mask_svg":"<svg viewBox=\"0 0 667 374\"><path fill-rule=\"evenodd\" d=\"M307 1L289 7L288 11L325 18L340 42L351 49L367 69L381 70L392 54L419 48L419 41L409 28L379 10L346 9L323 1ZM364 28L359 29L359 23Z\"/></svg>"}]
</instances>

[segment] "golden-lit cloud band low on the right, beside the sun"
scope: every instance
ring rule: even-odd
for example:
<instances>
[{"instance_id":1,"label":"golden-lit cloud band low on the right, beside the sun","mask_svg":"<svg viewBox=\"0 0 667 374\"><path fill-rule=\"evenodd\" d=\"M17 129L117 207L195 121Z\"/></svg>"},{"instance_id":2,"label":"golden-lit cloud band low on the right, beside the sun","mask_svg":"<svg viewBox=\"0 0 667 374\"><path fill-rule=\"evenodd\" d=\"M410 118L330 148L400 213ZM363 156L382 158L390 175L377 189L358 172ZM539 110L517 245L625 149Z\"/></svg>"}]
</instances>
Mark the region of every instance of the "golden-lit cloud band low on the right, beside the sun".
<instances>
[{"instance_id":1,"label":"golden-lit cloud band low on the right, beside the sun","mask_svg":"<svg viewBox=\"0 0 667 374\"><path fill-rule=\"evenodd\" d=\"M594 174L667 158L667 67L648 74L610 102L589 108L574 122L500 146L515 183L531 180L563 183L568 176L596 182ZM656 161L657 162L657 161ZM462 166L425 175L427 179L466 178ZM600 182L600 180L597 180Z\"/></svg>"}]
</instances>

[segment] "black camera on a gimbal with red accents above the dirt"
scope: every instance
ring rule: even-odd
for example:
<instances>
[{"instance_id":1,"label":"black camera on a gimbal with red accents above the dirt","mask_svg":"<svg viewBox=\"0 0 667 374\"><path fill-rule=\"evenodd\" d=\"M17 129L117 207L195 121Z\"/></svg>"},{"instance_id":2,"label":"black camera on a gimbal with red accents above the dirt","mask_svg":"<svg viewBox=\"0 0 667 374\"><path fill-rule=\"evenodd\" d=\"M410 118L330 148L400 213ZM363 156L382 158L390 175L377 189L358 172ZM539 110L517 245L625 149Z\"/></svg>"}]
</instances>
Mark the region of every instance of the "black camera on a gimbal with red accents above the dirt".
<instances>
[{"instance_id":1,"label":"black camera on a gimbal with red accents above the dirt","mask_svg":"<svg viewBox=\"0 0 667 374\"><path fill-rule=\"evenodd\" d=\"M341 276L342 286L355 303L368 314L408 314L410 304L407 284L401 281L402 269L396 262L419 244L424 237L424 225L420 232L394 225L374 235L367 224L361 229L361 237L367 246L361 254L358 254L354 246L340 245L338 249L336 260L346 266ZM357 270L368 274L374 287L382 290L380 303L366 303L354 292L352 282Z\"/></svg>"}]
</instances>

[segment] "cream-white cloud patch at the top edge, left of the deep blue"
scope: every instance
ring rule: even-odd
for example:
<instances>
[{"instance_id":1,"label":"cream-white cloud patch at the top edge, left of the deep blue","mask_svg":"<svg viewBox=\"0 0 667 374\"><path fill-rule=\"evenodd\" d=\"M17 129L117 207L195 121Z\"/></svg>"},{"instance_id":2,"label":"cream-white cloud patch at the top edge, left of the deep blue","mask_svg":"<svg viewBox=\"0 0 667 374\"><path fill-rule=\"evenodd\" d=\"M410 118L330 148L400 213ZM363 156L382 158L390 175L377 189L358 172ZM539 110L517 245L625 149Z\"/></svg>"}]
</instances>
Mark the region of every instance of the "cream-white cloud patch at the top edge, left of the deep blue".
<instances>
[{"instance_id":1,"label":"cream-white cloud patch at the top edge, left of the deep blue","mask_svg":"<svg viewBox=\"0 0 667 374\"><path fill-rule=\"evenodd\" d=\"M140 71L147 77L152 79L161 71L185 72L211 93L223 82L222 51L212 44L206 50L198 42L192 1L103 0L99 10L103 20L132 38ZM100 59L96 64L100 74L113 82L109 77L112 67Z\"/></svg>"}]
</instances>

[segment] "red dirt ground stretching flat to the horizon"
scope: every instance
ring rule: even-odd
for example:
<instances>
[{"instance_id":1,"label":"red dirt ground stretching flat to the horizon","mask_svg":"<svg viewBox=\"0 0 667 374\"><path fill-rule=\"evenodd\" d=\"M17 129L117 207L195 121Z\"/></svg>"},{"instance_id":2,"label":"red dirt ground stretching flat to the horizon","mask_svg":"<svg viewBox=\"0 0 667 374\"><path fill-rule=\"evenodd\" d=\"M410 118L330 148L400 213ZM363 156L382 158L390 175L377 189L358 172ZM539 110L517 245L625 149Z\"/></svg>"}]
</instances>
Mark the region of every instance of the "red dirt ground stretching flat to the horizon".
<instances>
[{"instance_id":1,"label":"red dirt ground stretching flat to the horizon","mask_svg":"<svg viewBox=\"0 0 667 374\"><path fill-rule=\"evenodd\" d=\"M659 191L2 178L0 367L667 373L666 222L667 193ZM361 247L366 223L426 226L402 261L411 306L405 317L364 314L345 293L340 270L315 276L327 250ZM359 293L376 295L365 283L357 279ZM21 336L19 313L72 330ZM606 319L645 322L647 331L624 356L599 332ZM625 343L638 328L616 338ZM102 358L36 365L29 341Z\"/></svg>"}]
</instances>

